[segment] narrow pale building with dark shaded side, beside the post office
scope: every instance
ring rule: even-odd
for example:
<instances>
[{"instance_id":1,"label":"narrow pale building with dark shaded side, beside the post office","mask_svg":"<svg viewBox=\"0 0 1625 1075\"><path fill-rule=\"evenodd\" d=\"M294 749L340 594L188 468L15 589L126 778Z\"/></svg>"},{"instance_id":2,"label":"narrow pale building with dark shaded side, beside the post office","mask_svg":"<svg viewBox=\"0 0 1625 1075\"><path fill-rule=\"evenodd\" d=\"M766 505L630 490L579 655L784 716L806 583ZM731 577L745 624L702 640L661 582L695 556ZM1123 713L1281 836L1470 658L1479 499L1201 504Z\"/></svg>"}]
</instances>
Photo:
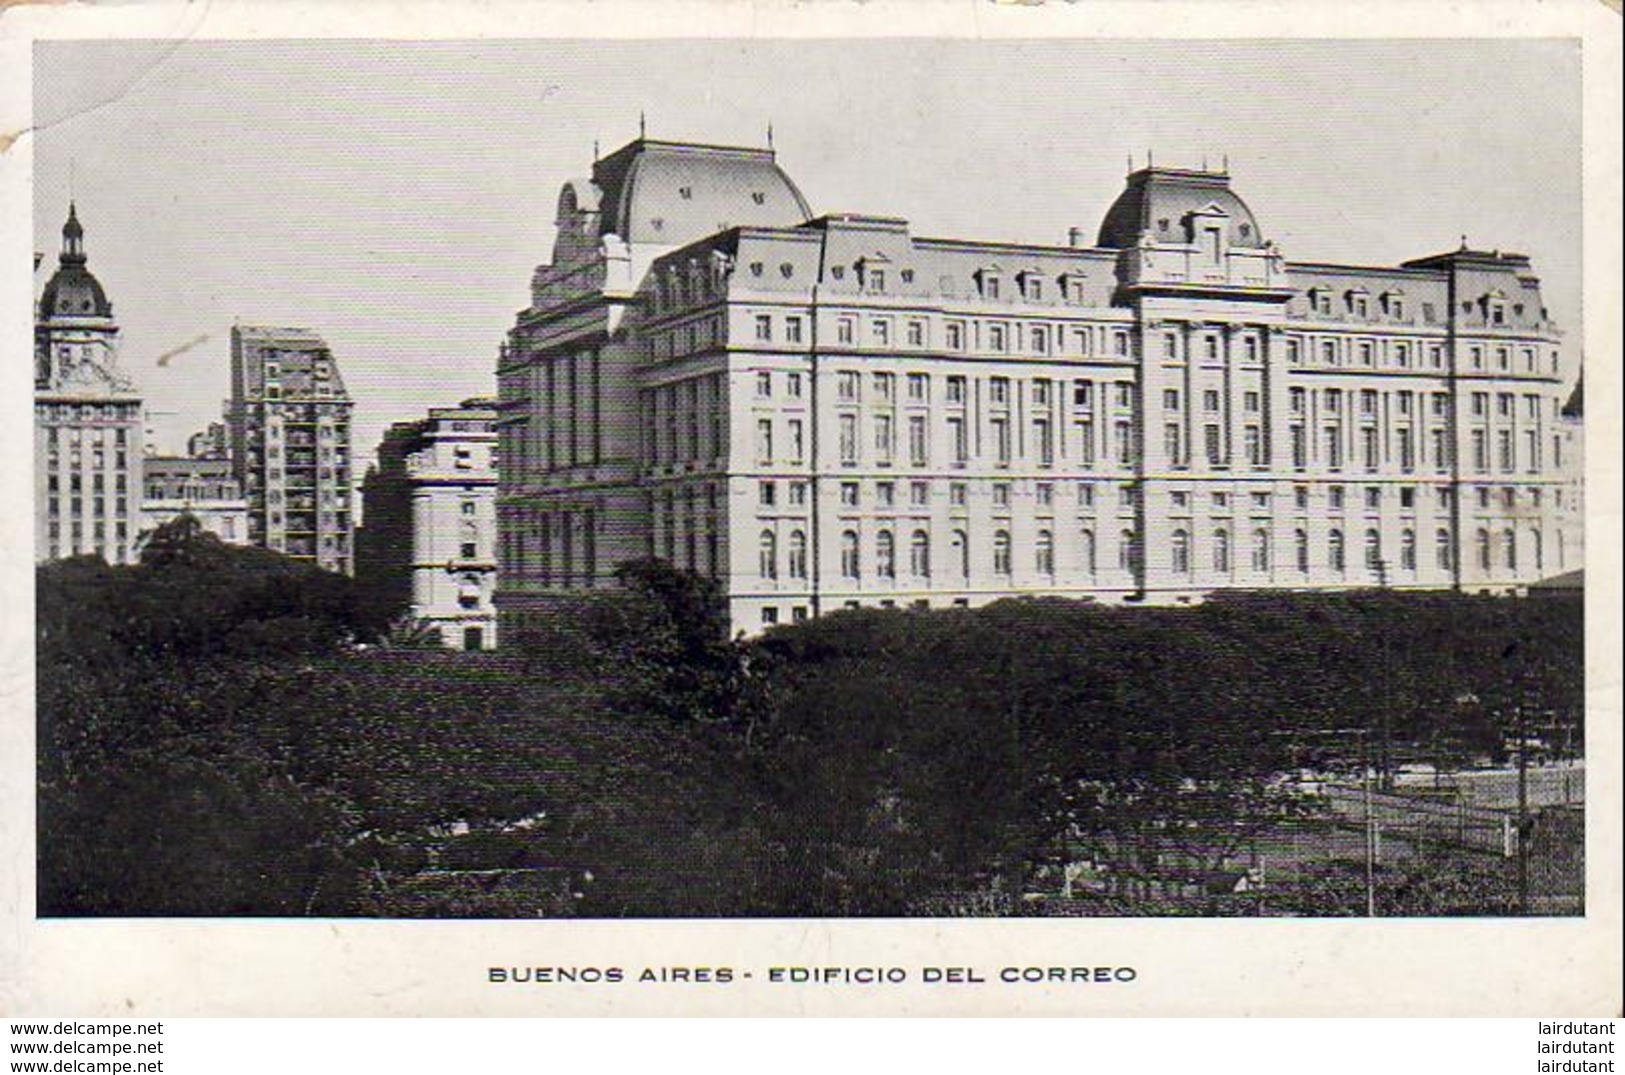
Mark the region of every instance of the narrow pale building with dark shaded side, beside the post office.
<instances>
[{"instance_id":1,"label":"narrow pale building with dark shaded side, beside the post office","mask_svg":"<svg viewBox=\"0 0 1625 1075\"><path fill-rule=\"evenodd\" d=\"M358 578L452 650L497 641L496 419L494 399L465 399L392 425L361 490Z\"/></svg>"}]
</instances>

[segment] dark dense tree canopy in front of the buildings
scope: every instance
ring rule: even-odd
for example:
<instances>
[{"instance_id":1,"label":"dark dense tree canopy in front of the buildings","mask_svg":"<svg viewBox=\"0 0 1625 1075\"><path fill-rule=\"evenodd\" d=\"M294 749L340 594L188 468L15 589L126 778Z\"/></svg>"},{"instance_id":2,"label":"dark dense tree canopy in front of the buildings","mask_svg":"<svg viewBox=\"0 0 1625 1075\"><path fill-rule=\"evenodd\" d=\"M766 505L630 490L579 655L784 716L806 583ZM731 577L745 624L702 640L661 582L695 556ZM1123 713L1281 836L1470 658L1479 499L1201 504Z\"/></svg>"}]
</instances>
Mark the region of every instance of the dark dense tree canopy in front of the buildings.
<instances>
[{"instance_id":1,"label":"dark dense tree canopy in front of the buildings","mask_svg":"<svg viewBox=\"0 0 1625 1075\"><path fill-rule=\"evenodd\" d=\"M1081 859L1233 867L1313 823L1305 765L1578 727L1571 601L1009 601L744 643L704 580L619 581L453 654L358 645L395 611L195 529L41 568L41 913L1014 913ZM1305 879L1289 909L1358 913Z\"/></svg>"}]
</instances>

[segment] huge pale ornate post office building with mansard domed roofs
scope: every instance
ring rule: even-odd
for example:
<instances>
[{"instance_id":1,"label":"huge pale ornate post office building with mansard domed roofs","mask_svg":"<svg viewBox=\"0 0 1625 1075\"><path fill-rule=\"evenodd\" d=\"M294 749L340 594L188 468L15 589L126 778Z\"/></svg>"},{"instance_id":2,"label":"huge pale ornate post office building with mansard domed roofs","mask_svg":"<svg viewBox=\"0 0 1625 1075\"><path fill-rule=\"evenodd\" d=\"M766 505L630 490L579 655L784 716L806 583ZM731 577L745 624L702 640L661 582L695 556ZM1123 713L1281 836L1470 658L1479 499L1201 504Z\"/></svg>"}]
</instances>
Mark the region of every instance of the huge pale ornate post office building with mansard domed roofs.
<instances>
[{"instance_id":1,"label":"huge pale ornate post office building with mansard domed roofs","mask_svg":"<svg viewBox=\"0 0 1625 1075\"><path fill-rule=\"evenodd\" d=\"M499 360L500 612L647 555L751 632L1580 567L1528 258L1287 261L1228 174L1168 167L1089 239L814 218L760 149L596 161Z\"/></svg>"}]
</instances>

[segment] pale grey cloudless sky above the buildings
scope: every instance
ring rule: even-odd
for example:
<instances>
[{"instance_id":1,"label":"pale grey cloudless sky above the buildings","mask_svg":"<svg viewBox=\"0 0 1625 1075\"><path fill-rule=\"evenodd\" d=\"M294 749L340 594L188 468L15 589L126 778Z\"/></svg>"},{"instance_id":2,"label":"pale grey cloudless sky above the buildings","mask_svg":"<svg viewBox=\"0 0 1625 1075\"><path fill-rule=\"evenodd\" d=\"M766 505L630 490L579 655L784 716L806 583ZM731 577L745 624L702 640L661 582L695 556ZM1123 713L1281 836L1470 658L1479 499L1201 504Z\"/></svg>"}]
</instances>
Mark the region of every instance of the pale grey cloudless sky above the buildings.
<instances>
[{"instance_id":1,"label":"pale grey cloudless sky above the buildings","mask_svg":"<svg viewBox=\"0 0 1625 1075\"><path fill-rule=\"evenodd\" d=\"M939 237L1092 237L1131 156L1228 158L1289 260L1518 250L1578 348L1580 52L1555 39L41 42L36 294L72 193L159 450L219 421L242 322L327 338L370 453L494 391L559 187L640 114L707 143L772 123L814 213Z\"/></svg>"}]
</instances>

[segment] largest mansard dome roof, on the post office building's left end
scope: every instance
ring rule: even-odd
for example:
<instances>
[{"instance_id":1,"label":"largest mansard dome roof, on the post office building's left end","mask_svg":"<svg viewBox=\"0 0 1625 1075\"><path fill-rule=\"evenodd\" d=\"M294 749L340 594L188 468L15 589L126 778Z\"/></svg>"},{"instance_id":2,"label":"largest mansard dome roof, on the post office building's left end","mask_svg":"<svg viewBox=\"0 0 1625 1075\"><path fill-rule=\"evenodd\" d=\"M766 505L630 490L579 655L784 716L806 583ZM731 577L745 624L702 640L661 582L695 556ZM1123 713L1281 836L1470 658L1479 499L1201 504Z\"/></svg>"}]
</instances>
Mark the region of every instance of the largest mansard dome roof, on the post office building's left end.
<instances>
[{"instance_id":1,"label":"largest mansard dome roof, on the post office building's left end","mask_svg":"<svg viewBox=\"0 0 1625 1075\"><path fill-rule=\"evenodd\" d=\"M728 227L812 216L770 149L640 138L593 167L601 234L679 245Z\"/></svg>"}]
</instances>

